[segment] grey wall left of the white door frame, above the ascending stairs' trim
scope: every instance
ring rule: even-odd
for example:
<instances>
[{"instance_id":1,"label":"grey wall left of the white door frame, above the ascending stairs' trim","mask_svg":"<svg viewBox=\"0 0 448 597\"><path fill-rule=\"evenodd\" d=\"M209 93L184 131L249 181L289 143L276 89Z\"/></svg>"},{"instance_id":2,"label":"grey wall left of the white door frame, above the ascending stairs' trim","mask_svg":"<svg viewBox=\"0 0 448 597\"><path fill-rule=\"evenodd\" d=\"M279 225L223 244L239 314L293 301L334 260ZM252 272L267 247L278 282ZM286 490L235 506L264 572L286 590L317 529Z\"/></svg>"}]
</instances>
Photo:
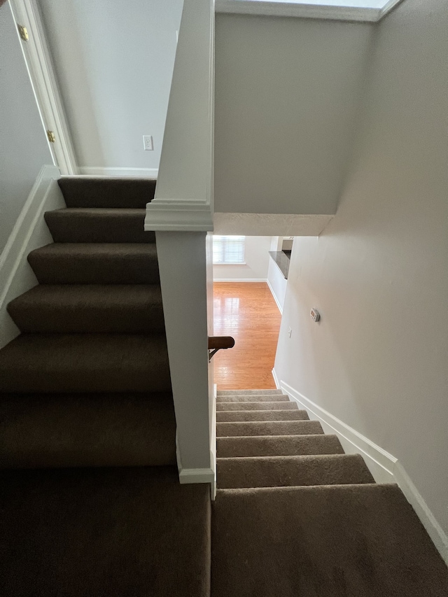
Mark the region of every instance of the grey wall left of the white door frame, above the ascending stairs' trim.
<instances>
[{"instance_id":1,"label":"grey wall left of the white door frame, above the ascending stairs' trim","mask_svg":"<svg viewBox=\"0 0 448 597\"><path fill-rule=\"evenodd\" d=\"M9 3L0 8L0 253L36 177L52 164Z\"/></svg>"}]
</instances>

